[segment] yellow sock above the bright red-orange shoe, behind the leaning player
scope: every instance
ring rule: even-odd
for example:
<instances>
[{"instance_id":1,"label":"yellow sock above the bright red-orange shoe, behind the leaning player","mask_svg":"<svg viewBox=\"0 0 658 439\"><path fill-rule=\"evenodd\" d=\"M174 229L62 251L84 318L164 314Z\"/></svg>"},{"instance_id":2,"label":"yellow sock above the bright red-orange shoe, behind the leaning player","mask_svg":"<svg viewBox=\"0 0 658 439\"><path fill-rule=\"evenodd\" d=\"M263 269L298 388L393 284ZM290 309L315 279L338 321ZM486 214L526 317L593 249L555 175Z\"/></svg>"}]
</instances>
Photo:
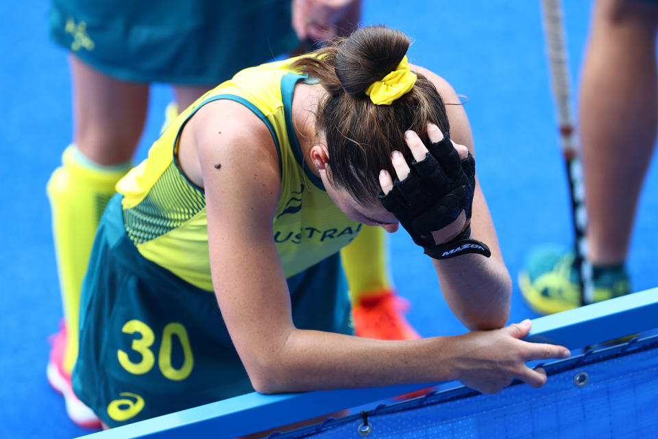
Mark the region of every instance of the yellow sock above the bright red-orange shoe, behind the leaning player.
<instances>
[{"instance_id":1,"label":"yellow sock above the bright red-orange shoe, behind the leaning player","mask_svg":"<svg viewBox=\"0 0 658 439\"><path fill-rule=\"evenodd\" d=\"M341 259L353 306L369 294L390 288L383 228L364 225L354 241L341 250Z\"/></svg>"}]
</instances>

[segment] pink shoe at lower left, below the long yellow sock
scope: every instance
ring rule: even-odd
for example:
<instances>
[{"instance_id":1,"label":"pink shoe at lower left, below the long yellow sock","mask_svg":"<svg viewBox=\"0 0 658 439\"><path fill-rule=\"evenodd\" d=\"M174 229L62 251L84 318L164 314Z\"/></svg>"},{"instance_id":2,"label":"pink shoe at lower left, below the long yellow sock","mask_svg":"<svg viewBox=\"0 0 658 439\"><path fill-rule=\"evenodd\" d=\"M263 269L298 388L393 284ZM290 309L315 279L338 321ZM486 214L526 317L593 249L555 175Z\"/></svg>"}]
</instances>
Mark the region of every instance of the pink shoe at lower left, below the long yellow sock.
<instances>
[{"instance_id":1,"label":"pink shoe at lower left, below the long yellow sock","mask_svg":"<svg viewBox=\"0 0 658 439\"><path fill-rule=\"evenodd\" d=\"M62 368L64 351L66 349L66 324L64 320L60 322L60 331L51 337L52 346L46 368L48 382L53 389L64 396L66 413L69 414L69 418L71 418L73 423L88 429L101 428L101 420L80 399L77 399L77 396L73 393L71 375L66 373L64 368Z\"/></svg>"}]
</instances>

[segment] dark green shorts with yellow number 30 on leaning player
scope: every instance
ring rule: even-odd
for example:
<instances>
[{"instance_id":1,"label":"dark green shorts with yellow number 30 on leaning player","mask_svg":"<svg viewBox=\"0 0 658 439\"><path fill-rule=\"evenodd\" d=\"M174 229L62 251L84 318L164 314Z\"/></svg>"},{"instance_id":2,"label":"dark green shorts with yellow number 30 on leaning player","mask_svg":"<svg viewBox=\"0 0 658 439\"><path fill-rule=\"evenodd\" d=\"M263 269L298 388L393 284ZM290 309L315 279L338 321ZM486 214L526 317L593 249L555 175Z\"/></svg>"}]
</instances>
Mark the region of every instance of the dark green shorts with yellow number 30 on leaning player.
<instances>
[{"instance_id":1,"label":"dark green shorts with yellow number 30 on leaning player","mask_svg":"<svg viewBox=\"0 0 658 439\"><path fill-rule=\"evenodd\" d=\"M288 285L296 327L352 333L338 254ZM82 287L73 390L110 427L253 392L215 295L138 253L121 195L103 214Z\"/></svg>"}]
</instances>

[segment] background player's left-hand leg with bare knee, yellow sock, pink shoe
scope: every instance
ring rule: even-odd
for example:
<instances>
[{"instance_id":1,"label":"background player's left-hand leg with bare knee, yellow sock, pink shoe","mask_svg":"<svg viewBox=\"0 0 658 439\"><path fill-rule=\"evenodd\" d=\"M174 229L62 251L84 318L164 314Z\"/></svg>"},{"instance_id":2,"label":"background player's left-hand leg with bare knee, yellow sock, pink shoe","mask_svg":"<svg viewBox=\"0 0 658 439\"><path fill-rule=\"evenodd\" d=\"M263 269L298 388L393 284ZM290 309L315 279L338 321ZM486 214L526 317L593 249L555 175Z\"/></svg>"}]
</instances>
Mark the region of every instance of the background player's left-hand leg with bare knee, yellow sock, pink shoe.
<instances>
[{"instance_id":1,"label":"background player's left-hand leg with bare knee, yellow sock, pink shoe","mask_svg":"<svg viewBox=\"0 0 658 439\"><path fill-rule=\"evenodd\" d=\"M147 85L114 80L71 58L73 76L74 143L66 148L62 165L48 182L53 240L66 327L58 333L49 364L68 381L77 357L80 287L96 228L117 181L130 169L130 159L145 123ZM61 381L61 380L60 380ZM53 384L54 385L54 384ZM80 425L93 425L64 392L69 416Z\"/></svg>"}]
</instances>

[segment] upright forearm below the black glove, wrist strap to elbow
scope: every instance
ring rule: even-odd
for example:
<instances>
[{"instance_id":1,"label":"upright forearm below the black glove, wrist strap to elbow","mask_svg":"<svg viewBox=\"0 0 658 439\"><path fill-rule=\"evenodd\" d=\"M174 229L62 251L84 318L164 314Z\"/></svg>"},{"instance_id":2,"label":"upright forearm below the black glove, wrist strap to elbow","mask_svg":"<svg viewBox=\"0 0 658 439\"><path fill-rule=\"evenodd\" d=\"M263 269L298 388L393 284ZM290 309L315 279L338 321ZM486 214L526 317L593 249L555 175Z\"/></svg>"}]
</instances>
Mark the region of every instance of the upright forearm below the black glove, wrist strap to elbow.
<instances>
[{"instance_id":1,"label":"upright forearm below the black glove, wrist strap to elbow","mask_svg":"<svg viewBox=\"0 0 658 439\"><path fill-rule=\"evenodd\" d=\"M509 318L511 279L497 256L432 259L446 302L468 329L501 328Z\"/></svg>"}]
</instances>

